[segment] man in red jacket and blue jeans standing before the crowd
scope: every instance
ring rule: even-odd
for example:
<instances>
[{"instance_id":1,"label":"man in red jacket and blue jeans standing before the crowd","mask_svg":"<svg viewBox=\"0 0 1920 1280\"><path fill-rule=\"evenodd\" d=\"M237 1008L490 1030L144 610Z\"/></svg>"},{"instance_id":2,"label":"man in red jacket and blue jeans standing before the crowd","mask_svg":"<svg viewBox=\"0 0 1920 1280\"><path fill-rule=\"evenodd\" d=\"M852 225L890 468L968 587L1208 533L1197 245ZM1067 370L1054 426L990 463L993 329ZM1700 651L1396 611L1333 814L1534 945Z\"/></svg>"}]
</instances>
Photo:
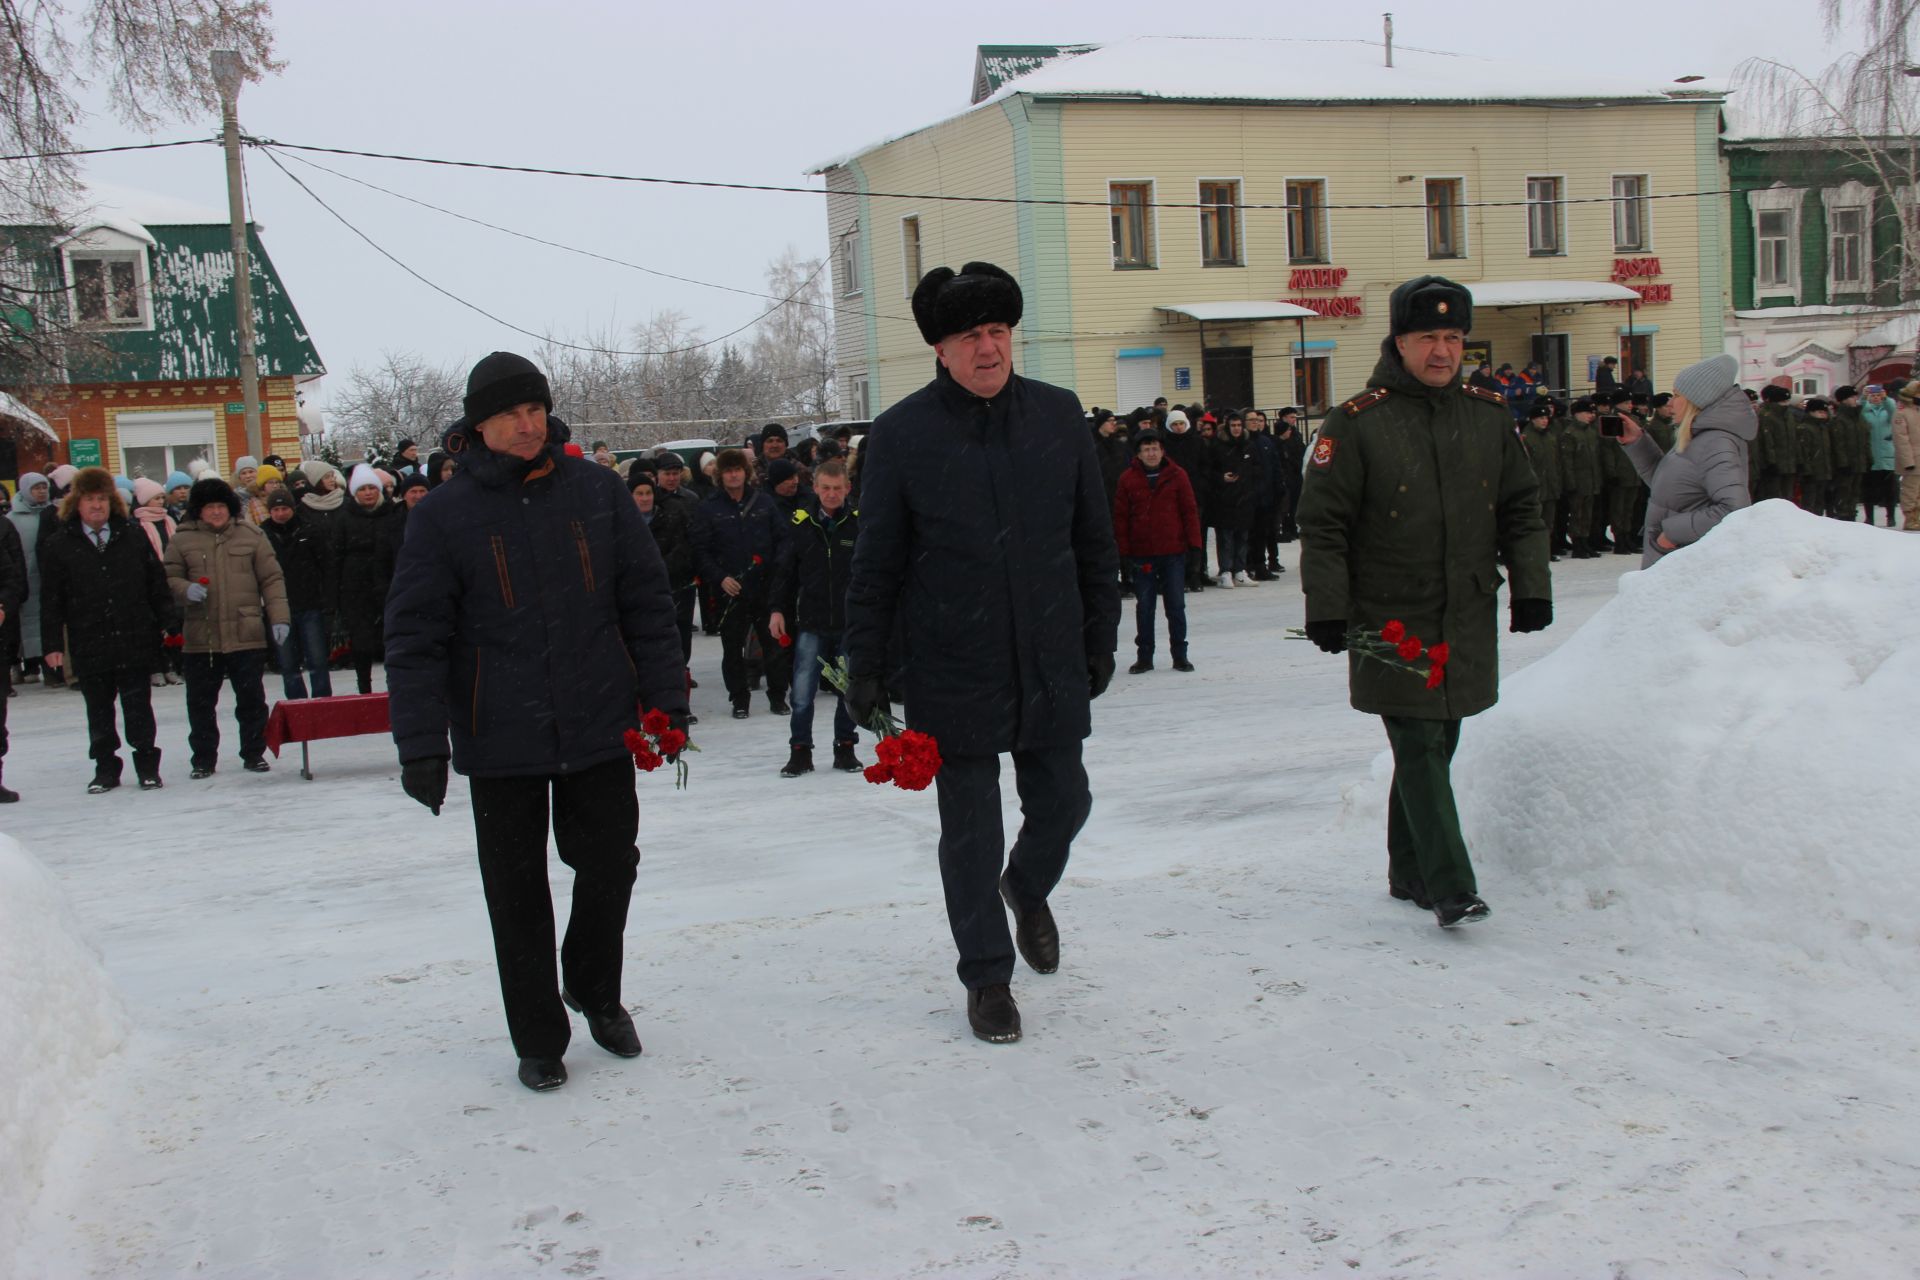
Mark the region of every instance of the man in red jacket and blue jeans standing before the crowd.
<instances>
[{"instance_id":1,"label":"man in red jacket and blue jeans standing before the crowd","mask_svg":"<svg viewBox=\"0 0 1920 1280\"><path fill-rule=\"evenodd\" d=\"M1165 457L1160 432L1133 439L1133 464L1114 489L1114 539L1119 562L1131 566L1135 595L1135 647L1139 660L1129 674L1154 670L1154 597L1167 599L1167 645L1173 670L1190 672L1187 660L1187 551L1204 547L1194 486L1181 464Z\"/></svg>"}]
</instances>

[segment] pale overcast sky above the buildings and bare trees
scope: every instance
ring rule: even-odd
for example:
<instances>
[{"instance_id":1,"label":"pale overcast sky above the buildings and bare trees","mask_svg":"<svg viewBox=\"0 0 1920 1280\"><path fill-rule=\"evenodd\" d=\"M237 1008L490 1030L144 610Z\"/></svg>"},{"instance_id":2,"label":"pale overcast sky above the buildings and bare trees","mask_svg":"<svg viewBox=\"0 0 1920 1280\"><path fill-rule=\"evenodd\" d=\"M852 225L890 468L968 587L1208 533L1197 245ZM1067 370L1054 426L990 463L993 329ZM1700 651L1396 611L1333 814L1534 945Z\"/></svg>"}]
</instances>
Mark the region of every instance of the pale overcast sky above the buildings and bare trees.
<instances>
[{"instance_id":1,"label":"pale overcast sky above the buildings and bare trees","mask_svg":"<svg viewBox=\"0 0 1920 1280\"><path fill-rule=\"evenodd\" d=\"M1008 6L549 4L278 0L288 67L248 86L242 127L284 142L555 169L810 184L803 175L889 132L966 107L975 44L1131 35L1379 38L1382 6L1292 0L1050 0ZM1524 15L1515 21L1515 15ZM1816 0L1432 0L1394 6L1402 44L1526 61L1607 58L1649 79L1724 77L1772 56L1832 61ZM1283 67L1284 71L1284 67ZM161 129L194 136L217 121ZM86 144L142 140L108 117ZM760 290L793 246L826 251L818 196L660 188L315 157L492 223L682 276ZM98 157L108 182L225 207L215 148ZM766 303L588 261L290 165L420 274L536 332L624 330L678 309L707 338ZM334 374L419 351L465 368L534 340L434 294L374 253L261 155L253 217ZM338 378L334 378L338 382ZM326 384L319 384L324 401Z\"/></svg>"}]
</instances>

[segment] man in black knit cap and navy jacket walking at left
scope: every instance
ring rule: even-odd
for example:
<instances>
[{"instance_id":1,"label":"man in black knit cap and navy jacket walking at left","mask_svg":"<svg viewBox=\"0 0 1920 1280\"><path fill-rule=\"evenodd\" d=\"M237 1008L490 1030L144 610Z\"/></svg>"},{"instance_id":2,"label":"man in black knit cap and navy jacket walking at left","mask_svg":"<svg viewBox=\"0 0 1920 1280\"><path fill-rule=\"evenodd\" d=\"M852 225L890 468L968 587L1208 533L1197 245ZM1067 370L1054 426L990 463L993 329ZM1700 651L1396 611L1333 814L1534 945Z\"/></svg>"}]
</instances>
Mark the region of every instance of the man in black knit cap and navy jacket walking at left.
<instances>
[{"instance_id":1,"label":"man in black knit cap and navy jacket walking at left","mask_svg":"<svg viewBox=\"0 0 1920 1280\"><path fill-rule=\"evenodd\" d=\"M549 1090L566 1082L566 1007L601 1048L639 1054L620 1006L639 865L622 739L641 706L685 723L685 666L653 535L616 472L564 455L545 376L495 351L468 374L463 409L442 438L459 470L407 516L386 601L390 716L401 785L434 814L451 731L520 1082ZM559 973L549 798L574 869Z\"/></svg>"}]
</instances>

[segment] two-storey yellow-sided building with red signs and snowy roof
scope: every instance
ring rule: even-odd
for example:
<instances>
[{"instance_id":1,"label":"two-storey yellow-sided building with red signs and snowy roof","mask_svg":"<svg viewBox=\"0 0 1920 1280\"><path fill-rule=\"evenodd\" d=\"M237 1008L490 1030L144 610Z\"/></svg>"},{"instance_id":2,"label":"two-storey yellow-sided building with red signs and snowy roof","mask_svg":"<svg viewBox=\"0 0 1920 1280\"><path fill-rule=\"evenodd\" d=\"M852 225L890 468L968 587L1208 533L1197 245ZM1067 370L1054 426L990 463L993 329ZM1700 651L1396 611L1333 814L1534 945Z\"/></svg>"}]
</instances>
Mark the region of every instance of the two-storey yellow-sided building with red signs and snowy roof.
<instances>
[{"instance_id":1,"label":"two-storey yellow-sided building with red signs and snowy roof","mask_svg":"<svg viewBox=\"0 0 1920 1280\"><path fill-rule=\"evenodd\" d=\"M1365 42L1035 61L820 169L849 416L931 376L908 297L970 259L1025 290L1020 370L1119 411L1321 411L1365 384L1388 294L1427 273L1476 292L1469 344L1563 390L1603 355L1665 384L1724 345L1724 198L1697 196L1724 188L1715 86L1411 50L1388 67ZM1632 305L1578 301L1597 296ZM1273 303L1313 317L1252 319Z\"/></svg>"}]
</instances>

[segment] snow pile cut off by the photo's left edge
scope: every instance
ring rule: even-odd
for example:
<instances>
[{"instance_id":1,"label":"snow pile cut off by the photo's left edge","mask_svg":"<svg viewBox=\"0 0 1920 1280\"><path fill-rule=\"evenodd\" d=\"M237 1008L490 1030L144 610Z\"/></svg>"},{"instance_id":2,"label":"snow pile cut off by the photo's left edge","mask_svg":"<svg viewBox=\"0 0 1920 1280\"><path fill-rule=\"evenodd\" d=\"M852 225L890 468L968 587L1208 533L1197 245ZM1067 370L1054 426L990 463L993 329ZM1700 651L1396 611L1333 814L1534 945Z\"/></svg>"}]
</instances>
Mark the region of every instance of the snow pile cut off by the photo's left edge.
<instances>
[{"instance_id":1,"label":"snow pile cut off by the photo's left edge","mask_svg":"<svg viewBox=\"0 0 1920 1280\"><path fill-rule=\"evenodd\" d=\"M71 1100L123 1036L119 996L60 885L0 835L0 1268Z\"/></svg>"}]
</instances>

